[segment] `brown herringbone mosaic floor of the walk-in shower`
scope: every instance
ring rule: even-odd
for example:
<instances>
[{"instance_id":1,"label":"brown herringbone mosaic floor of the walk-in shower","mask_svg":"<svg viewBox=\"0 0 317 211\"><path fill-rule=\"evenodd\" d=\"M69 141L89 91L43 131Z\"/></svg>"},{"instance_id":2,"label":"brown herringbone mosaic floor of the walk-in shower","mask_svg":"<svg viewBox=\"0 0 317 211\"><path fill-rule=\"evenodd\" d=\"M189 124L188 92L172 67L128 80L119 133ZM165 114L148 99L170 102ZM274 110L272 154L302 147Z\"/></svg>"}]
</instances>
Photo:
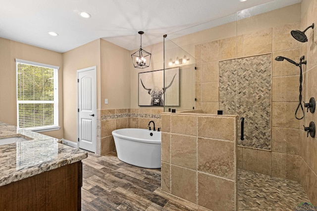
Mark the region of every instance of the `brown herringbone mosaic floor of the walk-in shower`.
<instances>
[{"instance_id":1,"label":"brown herringbone mosaic floor of the walk-in shower","mask_svg":"<svg viewBox=\"0 0 317 211\"><path fill-rule=\"evenodd\" d=\"M237 186L239 211L294 211L310 202L299 182L253 171L238 169Z\"/></svg>"}]
</instances>

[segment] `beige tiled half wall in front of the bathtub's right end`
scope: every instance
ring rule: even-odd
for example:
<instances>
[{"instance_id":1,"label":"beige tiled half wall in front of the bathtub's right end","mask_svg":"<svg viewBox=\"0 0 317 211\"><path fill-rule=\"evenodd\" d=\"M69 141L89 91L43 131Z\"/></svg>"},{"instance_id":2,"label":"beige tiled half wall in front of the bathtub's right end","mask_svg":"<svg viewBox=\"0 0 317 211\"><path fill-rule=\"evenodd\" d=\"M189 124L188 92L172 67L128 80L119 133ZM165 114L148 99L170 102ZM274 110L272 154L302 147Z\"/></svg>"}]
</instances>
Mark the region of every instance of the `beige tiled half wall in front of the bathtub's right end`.
<instances>
[{"instance_id":1,"label":"beige tiled half wall in front of the bathtub's right end","mask_svg":"<svg viewBox=\"0 0 317 211\"><path fill-rule=\"evenodd\" d=\"M211 210L236 210L237 117L162 113L161 120L162 190Z\"/></svg>"}]
</instances>

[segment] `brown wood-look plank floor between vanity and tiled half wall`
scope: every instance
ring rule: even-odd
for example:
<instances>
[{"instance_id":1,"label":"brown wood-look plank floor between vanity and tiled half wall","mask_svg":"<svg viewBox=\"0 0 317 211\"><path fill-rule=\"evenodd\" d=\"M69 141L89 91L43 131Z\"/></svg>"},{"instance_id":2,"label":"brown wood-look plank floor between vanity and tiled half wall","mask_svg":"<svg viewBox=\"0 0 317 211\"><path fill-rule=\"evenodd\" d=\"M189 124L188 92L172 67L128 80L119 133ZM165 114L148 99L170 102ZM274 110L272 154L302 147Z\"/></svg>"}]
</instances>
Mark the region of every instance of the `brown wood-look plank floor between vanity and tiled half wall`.
<instances>
[{"instance_id":1,"label":"brown wood-look plank floor between vanity and tiled half wall","mask_svg":"<svg viewBox=\"0 0 317 211\"><path fill-rule=\"evenodd\" d=\"M209 211L161 191L160 169L128 165L115 152L88 152L82 162L82 211Z\"/></svg>"}]
</instances>

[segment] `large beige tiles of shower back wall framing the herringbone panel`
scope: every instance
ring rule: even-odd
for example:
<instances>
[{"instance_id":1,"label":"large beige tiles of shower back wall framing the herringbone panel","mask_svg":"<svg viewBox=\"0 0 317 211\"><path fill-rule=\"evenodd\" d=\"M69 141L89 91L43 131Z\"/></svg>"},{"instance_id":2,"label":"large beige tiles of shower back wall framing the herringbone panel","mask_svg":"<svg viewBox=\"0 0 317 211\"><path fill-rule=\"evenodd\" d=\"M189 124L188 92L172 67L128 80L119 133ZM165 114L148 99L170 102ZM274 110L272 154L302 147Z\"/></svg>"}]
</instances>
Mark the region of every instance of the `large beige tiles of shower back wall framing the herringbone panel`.
<instances>
[{"instance_id":1,"label":"large beige tiles of shower back wall framing the herringbone panel","mask_svg":"<svg viewBox=\"0 0 317 211\"><path fill-rule=\"evenodd\" d=\"M239 22L237 27L239 32ZM195 56L198 63L196 72L196 98L198 101L196 107L209 114L216 114L219 108L222 109L219 105L221 103L219 101L219 91L221 92L221 90L218 88L219 64L236 58L238 58L237 61L245 61L252 57L266 57L265 64L271 60L269 67L271 76L268 76L271 80L270 108L268 113L263 114L265 117L259 120L263 121L264 118L269 120L270 129L268 132L271 133L271 137L262 142L264 144L252 141L247 147L240 142L237 148L237 167L295 181L299 181L300 165L298 141L300 123L294 117L298 105L299 68L286 61L275 61L274 58L285 56L299 61L301 45L290 34L291 30L299 27L299 22L290 23L239 35L237 38L206 42L195 46ZM231 44L223 45L224 42ZM230 64L228 65L230 66ZM235 69L235 65L234 62L230 68ZM249 80L248 76L245 77L245 80ZM227 82L235 83L230 78L227 79ZM269 84L269 82L267 83ZM230 94L230 92L228 93ZM250 95L253 97L252 94ZM234 98L236 106L241 106L237 104L237 97ZM241 100L245 103L252 103L253 99L249 99L249 96L245 94L241 96ZM262 136L264 137L264 135Z\"/></svg>"}]
</instances>

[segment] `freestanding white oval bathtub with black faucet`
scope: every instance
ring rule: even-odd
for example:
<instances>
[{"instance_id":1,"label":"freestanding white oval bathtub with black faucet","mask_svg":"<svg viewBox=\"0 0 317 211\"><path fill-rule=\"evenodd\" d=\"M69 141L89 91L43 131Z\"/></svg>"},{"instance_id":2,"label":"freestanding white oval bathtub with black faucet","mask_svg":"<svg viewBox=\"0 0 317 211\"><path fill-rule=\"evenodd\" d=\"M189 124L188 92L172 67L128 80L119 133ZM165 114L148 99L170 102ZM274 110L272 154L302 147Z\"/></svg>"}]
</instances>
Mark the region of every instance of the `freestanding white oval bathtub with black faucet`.
<instances>
[{"instance_id":1,"label":"freestanding white oval bathtub with black faucet","mask_svg":"<svg viewBox=\"0 0 317 211\"><path fill-rule=\"evenodd\" d=\"M159 169L161 132L123 128L112 131L119 160L133 166Z\"/></svg>"}]
</instances>

